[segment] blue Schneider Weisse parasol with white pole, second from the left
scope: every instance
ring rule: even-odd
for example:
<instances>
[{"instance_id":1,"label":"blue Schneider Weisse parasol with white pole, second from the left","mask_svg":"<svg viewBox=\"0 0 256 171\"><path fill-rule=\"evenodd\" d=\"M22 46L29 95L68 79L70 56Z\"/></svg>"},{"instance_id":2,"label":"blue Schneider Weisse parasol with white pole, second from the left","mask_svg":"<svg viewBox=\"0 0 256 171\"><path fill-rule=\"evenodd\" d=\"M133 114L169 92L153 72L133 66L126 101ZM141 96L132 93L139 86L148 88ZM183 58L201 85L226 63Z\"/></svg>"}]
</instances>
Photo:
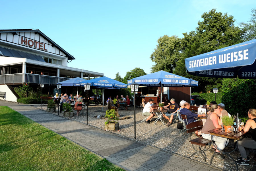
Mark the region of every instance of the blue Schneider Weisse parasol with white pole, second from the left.
<instances>
[{"instance_id":1,"label":"blue Schneider Weisse parasol with white pole, second from the left","mask_svg":"<svg viewBox=\"0 0 256 171\"><path fill-rule=\"evenodd\" d=\"M104 104L103 103L104 102L104 88L111 88L111 89L127 88L127 84L113 80L113 79L105 77L105 76L80 82L80 85L84 85L85 83L89 83L91 86L94 86L96 88L100 87L103 89L102 111L103 111L103 106L104 106L103 105Z\"/></svg>"}]
</instances>

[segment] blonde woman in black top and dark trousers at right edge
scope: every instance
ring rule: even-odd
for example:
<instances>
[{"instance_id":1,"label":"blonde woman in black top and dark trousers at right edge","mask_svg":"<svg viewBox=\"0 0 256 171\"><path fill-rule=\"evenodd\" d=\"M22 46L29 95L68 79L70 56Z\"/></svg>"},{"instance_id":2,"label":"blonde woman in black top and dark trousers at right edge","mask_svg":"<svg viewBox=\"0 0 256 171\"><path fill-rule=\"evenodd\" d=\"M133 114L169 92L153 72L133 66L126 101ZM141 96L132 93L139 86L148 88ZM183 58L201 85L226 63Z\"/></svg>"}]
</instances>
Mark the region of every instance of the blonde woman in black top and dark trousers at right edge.
<instances>
[{"instance_id":1,"label":"blonde woman in black top and dark trousers at right edge","mask_svg":"<svg viewBox=\"0 0 256 171\"><path fill-rule=\"evenodd\" d=\"M238 141L238 149L241 157L236 158L237 164L249 166L249 148L256 149L256 109L249 109L248 121L246 122L243 131L249 132L251 138L244 138L242 141Z\"/></svg>"}]
</instances>

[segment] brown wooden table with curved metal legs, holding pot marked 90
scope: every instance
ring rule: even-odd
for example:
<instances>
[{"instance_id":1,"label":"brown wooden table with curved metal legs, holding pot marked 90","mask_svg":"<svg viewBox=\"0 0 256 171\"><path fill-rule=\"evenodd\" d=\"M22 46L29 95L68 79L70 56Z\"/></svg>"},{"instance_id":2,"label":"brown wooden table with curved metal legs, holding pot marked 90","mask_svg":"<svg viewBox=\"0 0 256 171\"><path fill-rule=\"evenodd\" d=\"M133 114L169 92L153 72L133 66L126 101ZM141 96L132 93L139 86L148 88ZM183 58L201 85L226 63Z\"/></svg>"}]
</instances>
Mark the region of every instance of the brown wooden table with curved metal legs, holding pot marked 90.
<instances>
[{"instance_id":1,"label":"brown wooden table with curved metal legs, holding pot marked 90","mask_svg":"<svg viewBox=\"0 0 256 171\"><path fill-rule=\"evenodd\" d=\"M236 146L234 148L234 150L232 151L229 151L229 152L225 152L224 150L220 150L218 149L215 144L213 143L212 141L212 136L211 136L211 141L212 141L212 144L214 145L214 147L216 149L218 149L220 152L217 152L215 154L219 154L219 153L222 153L224 155L228 155L230 158L232 158L228 153L232 153L236 150L237 146L238 146L238 141L240 139L240 137L242 137L243 135L245 135L247 132L244 132L243 130L238 130L237 133L234 133L233 131L231 133L227 133L225 131L223 131L221 128L216 128L216 129L213 129L213 130L210 130L208 131L210 133L210 135L214 135L214 136L218 136L218 137L223 137L223 138L228 138L228 139L234 139L234 140L237 140L237 143L236 143ZM211 158L211 162L210 162L210 165L212 165L212 159L214 157L214 155L212 155L212 158ZM234 158L232 158L232 160L235 162L236 164L236 161L234 160ZM236 164L236 170L238 170L238 166Z\"/></svg>"}]
</instances>

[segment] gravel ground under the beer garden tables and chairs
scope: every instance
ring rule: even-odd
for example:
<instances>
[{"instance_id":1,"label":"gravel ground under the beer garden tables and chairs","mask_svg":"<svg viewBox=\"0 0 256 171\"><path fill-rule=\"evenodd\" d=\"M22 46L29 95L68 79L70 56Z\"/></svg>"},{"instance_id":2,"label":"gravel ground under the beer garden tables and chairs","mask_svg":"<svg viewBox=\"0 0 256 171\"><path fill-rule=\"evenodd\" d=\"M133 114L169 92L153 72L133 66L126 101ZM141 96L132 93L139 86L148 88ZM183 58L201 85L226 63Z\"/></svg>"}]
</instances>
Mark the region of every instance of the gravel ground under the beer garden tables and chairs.
<instances>
[{"instance_id":1,"label":"gravel ground under the beer garden tables and chairs","mask_svg":"<svg viewBox=\"0 0 256 171\"><path fill-rule=\"evenodd\" d=\"M41 105L35 106L41 109ZM46 106L43 106L43 110L46 110ZM56 108L58 110L58 108ZM107 107L104 107L104 111L107 110ZM104 115L102 111L102 106L89 106L88 107L88 125L96 127L98 129L104 130L104 119L97 119L97 115ZM143 143L150 146L158 147L162 150L166 150L172 153L176 153L185 157L189 157L194 153L192 148L192 144L189 143L190 137L186 137L186 133L180 134L180 130L176 128L177 123L170 125L169 127L164 126L161 121L158 121L156 125L150 123L149 125L146 123L141 123L142 119L144 119L141 115L141 109L136 108L136 139L134 139L134 108L131 111L118 110L121 118L123 117L131 117L130 119L119 120L119 130L118 131L109 131L111 133L117 134L121 137L126 137L128 139L137 141L139 143ZM84 112L86 113L86 111ZM58 115L58 111L53 114ZM62 114L60 113L62 116ZM153 118L156 118L153 117ZM78 116L78 117L69 117L69 119L73 121L77 121L79 123L86 124L86 116ZM105 130L106 131L106 130ZM192 136L192 139L196 138L195 135ZM212 146L212 145L211 145ZM230 140L230 143L226 147L227 150L232 150L234 146L234 141ZM207 159L206 163L210 164L210 158L212 153L207 150L205 152ZM255 154L255 150L251 150L249 157L253 159ZM237 157L240 157L239 151L236 150L232 153L232 157L236 160ZM201 155L195 154L192 156L194 160L205 162ZM249 161L249 166L240 166L238 165L239 170L251 170L253 165L255 164L254 160ZM226 156L224 160L220 160L218 158L214 158L213 164L218 168L222 168L224 170L236 170L235 164L233 164L232 159Z\"/></svg>"}]
</instances>

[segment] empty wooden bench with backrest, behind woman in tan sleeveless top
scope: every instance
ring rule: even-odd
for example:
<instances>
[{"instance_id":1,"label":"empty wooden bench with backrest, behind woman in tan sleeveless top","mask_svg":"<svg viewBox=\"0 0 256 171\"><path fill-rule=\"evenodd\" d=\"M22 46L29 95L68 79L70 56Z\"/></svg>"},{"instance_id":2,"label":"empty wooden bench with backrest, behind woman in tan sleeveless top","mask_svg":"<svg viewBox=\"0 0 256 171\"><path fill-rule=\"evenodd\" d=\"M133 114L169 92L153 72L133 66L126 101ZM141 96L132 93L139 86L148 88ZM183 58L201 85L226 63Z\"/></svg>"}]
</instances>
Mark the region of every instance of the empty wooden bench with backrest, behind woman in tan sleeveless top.
<instances>
[{"instance_id":1,"label":"empty wooden bench with backrest, behind woman in tan sleeveless top","mask_svg":"<svg viewBox=\"0 0 256 171\"><path fill-rule=\"evenodd\" d=\"M189 156L189 158L192 157L195 154L201 154L201 156L203 156L203 158L205 159L205 162L206 162L206 156L203 155L203 154L205 154L203 152L205 151L206 146L211 143L211 140L204 139L203 137L198 137L196 139L191 138L191 133L193 133L194 131L198 131L198 130L203 128L203 121L197 121L197 122L189 123L189 124L186 125L186 128L187 128L187 133L189 133L189 135L190 135L190 141L189 142L192 144L192 147L195 150L195 152L191 156ZM198 145L199 150L196 150L194 145ZM201 148L203 146L204 146L204 148L202 150Z\"/></svg>"}]
</instances>

